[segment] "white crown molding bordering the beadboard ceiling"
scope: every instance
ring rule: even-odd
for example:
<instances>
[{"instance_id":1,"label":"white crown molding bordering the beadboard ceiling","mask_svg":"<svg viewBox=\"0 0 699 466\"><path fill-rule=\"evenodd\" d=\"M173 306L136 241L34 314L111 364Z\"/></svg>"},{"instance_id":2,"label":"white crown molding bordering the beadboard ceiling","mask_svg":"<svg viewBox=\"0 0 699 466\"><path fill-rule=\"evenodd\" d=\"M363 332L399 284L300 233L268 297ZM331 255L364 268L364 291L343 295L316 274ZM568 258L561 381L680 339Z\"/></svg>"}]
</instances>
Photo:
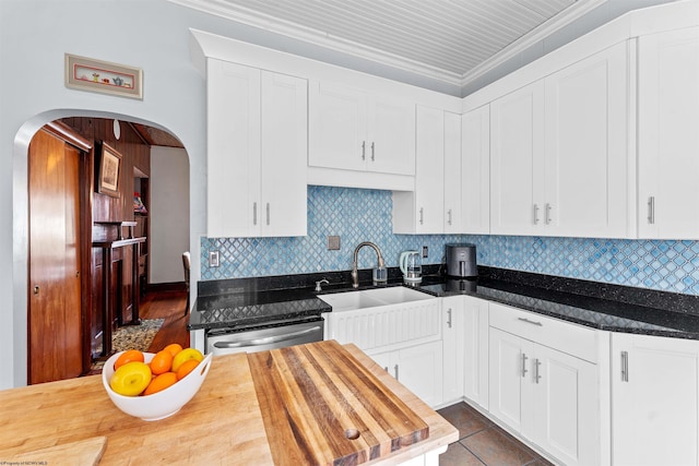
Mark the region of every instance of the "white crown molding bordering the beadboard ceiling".
<instances>
[{"instance_id":1,"label":"white crown molding bordering the beadboard ceiling","mask_svg":"<svg viewBox=\"0 0 699 466\"><path fill-rule=\"evenodd\" d=\"M204 13L268 31L270 33L305 41L324 49L346 53L355 58L380 63L382 65L391 67L430 80L463 87L608 0L578 0L560 14L520 37L510 46L464 74L449 72L404 57L378 50L372 47L364 46L352 40L345 40L310 27L301 26L246 7L234 4L226 0L168 1L181 7L199 10ZM287 51L293 52L293 50Z\"/></svg>"}]
</instances>

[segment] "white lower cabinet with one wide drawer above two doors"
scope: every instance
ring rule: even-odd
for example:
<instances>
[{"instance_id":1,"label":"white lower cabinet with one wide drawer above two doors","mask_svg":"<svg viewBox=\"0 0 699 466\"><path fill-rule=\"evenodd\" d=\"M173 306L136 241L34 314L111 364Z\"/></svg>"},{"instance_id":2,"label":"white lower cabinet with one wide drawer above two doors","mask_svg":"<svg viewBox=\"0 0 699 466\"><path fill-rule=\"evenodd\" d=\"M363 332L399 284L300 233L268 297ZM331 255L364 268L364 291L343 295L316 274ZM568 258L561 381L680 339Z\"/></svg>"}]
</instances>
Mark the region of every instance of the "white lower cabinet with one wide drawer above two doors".
<instances>
[{"instance_id":1,"label":"white lower cabinet with one wide drawer above two doors","mask_svg":"<svg viewBox=\"0 0 699 466\"><path fill-rule=\"evenodd\" d=\"M494 309L508 331L493 326ZM522 325L529 336L553 324L548 332L584 340L594 331L496 303L490 311L489 413L562 464L600 464L596 365L509 332Z\"/></svg>"}]
</instances>

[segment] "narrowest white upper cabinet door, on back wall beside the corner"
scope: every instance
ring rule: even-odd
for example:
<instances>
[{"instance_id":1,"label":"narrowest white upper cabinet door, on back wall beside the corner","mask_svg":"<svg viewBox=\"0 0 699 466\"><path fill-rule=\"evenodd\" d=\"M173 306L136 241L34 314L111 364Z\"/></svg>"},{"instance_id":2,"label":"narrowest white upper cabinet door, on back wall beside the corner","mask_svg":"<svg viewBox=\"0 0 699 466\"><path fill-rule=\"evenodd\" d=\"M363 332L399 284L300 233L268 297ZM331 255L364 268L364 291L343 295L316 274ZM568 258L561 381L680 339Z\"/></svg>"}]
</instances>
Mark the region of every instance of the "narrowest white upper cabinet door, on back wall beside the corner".
<instances>
[{"instance_id":1,"label":"narrowest white upper cabinet door, on back wall beside the corner","mask_svg":"<svg viewBox=\"0 0 699 466\"><path fill-rule=\"evenodd\" d=\"M461 231L461 116L445 111L445 234ZM419 174L419 172L418 172ZM486 207L487 211L487 207Z\"/></svg>"}]
</instances>

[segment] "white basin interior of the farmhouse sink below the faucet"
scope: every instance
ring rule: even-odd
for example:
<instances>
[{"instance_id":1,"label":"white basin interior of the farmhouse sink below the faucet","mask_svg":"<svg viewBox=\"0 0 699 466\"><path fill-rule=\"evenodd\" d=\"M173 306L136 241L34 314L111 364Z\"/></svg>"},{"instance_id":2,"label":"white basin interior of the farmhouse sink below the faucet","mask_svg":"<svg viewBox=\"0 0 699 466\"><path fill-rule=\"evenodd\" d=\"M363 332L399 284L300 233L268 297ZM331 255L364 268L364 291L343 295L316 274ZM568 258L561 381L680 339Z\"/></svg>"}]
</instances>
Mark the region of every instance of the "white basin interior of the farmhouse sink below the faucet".
<instances>
[{"instance_id":1,"label":"white basin interior of the farmhouse sink below the faucet","mask_svg":"<svg viewBox=\"0 0 699 466\"><path fill-rule=\"evenodd\" d=\"M414 289L395 286L390 288L365 289L362 291L345 291L321 295L322 299L332 306L333 312L353 311L356 309L377 308L380 306L399 304L401 302L430 299L434 296Z\"/></svg>"}]
</instances>

